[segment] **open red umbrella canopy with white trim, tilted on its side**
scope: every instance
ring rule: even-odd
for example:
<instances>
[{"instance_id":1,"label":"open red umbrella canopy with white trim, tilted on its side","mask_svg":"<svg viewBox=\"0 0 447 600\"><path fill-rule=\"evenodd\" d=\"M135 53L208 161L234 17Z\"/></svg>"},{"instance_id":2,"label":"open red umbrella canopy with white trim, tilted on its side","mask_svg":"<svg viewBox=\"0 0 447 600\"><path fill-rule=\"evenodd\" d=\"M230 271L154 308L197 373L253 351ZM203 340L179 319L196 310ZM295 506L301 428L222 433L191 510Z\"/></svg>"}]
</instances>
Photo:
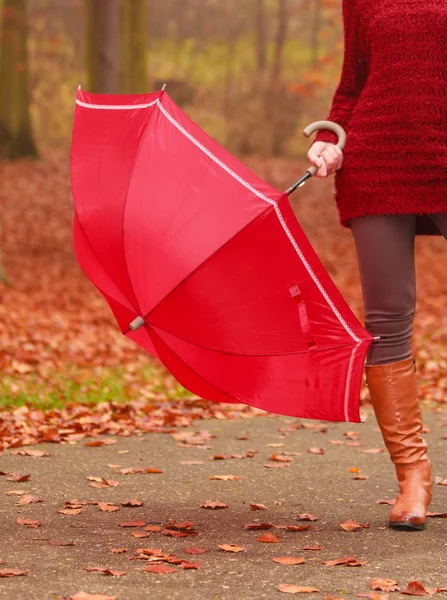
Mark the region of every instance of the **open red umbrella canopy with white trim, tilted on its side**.
<instances>
[{"instance_id":1,"label":"open red umbrella canopy with white trim, tilted on its side","mask_svg":"<svg viewBox=\"0 0 447 600\"><path fill-rule=\"evenodd\" d=\"M123 334L182 385L274 413L360 420L372 337L286 192L163 91L79 91L71 171L81 268Z\"/></svg>"}]
</instances>

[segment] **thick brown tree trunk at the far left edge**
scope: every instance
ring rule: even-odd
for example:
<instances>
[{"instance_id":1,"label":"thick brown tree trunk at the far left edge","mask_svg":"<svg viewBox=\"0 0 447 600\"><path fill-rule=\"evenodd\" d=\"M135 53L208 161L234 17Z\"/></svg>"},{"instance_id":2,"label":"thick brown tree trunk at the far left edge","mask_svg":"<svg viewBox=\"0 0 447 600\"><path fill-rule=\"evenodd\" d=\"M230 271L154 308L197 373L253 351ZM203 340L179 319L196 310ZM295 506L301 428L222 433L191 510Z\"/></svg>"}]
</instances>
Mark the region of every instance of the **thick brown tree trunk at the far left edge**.
<instances>
[{"instance_id":1,"label":"thick brown tree trunk at the far left edge","mask_svg":"<svg viewBox=\"0 0 447 600\"><path fill-rule=\"evenodd\" d=\"M4 0L0 29L0 158L37 158L29 114L26 0Z\"/></svg>"}]
</instances>

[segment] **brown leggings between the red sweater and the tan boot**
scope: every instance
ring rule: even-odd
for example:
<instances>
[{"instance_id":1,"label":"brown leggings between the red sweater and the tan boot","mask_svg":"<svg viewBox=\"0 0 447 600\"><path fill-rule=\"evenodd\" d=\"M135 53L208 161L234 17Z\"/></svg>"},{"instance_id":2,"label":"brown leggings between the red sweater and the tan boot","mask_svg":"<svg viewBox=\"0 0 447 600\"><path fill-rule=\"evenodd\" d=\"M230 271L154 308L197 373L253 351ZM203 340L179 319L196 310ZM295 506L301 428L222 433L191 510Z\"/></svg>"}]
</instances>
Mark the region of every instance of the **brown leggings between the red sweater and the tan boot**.
<instances>
[{"instance_id":1,"label":"brown leggings between the red sweater and the tan boot","mask_svg":"<svg viewBox=\"0 0 447 600\"><path fill-rule=\"evenodd\" d=\"M447 213L430 215L447 239ZM365 306L365 329L380 336L368 350L367 364L380 365L412 355L416 305L415 215L351 219Z\"/></svg>"}]
</instances>

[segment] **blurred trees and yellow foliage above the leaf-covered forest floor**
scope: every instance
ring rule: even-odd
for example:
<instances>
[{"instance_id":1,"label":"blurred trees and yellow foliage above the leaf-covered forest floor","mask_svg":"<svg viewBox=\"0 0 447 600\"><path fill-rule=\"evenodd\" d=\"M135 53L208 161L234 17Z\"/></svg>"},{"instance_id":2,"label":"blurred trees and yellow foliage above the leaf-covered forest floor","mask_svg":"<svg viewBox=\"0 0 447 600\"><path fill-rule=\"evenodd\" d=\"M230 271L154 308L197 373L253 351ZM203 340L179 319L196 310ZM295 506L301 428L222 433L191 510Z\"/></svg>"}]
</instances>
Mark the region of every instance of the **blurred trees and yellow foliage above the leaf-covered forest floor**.
<instances>
[{"instance_id":1,"label":"blurred trees and yellow foliage above the leaf-covered forest floor","mask_svg":"<svg viewBox=\"0 0 447 600\"><path fill-rule=\"evenodd\" d=\"M143 93L163 83L230 151L296 155L307 146L300 128L326 115L339 77L341 0L0 5L3 158L67 146L78 84Z\"/></svg>"}]
</instances>

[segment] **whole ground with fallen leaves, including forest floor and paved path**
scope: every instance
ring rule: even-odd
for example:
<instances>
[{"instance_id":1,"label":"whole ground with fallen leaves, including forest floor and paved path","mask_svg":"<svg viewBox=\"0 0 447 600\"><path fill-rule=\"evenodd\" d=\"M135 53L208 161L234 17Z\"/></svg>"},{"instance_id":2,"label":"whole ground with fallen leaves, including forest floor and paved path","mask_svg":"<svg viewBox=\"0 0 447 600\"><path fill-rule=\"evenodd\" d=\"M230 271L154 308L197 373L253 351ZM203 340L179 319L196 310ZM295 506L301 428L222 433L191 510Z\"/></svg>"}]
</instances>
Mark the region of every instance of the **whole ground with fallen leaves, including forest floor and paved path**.
<instances>
[{"instance_id":1,"label":"whole ground with fallen leaves, including forest floor and paved path","mask_svg":"<svg viewBox=\"0 0 447 600\"><path fill-rule=\"evenodd\" d=\"M280 188L306 165L250 164ZM397 534L386 528L394 475L366 404L366 423L348 428L205 402L120 335L73 257L68 166L66 155L0 164L11 279L0 288L0 598L442 598L445 240L417 241L433 515L425 533ZM294 207L362 318L331 185L309 182Z\"/></svg>"}]
</instances>

